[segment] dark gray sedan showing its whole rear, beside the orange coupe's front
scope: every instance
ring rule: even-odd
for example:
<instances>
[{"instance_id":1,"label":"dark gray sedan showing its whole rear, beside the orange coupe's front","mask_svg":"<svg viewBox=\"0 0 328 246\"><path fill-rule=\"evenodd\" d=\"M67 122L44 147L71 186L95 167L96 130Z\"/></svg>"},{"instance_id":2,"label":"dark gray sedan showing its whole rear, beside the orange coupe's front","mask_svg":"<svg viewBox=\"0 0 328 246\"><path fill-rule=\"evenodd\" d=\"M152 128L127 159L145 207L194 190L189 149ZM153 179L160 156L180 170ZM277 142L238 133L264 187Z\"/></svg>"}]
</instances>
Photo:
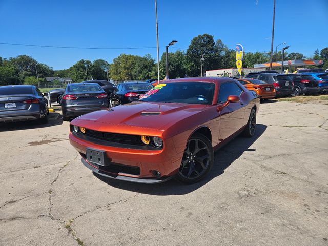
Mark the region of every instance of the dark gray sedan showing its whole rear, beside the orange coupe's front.
<instances>
[{"instance_id":1,"label":"dark gray sedan showing its whole rear, beside the orange coupe's front","mask_svg":"<svg viewBox=\"0 0 328 246\"><path fill-rule=\"evenodd\" d=\"M101 109L108 109L108 95L94 83L68 84L61 97L64 120Z\"/></svg>"}]
</instances>

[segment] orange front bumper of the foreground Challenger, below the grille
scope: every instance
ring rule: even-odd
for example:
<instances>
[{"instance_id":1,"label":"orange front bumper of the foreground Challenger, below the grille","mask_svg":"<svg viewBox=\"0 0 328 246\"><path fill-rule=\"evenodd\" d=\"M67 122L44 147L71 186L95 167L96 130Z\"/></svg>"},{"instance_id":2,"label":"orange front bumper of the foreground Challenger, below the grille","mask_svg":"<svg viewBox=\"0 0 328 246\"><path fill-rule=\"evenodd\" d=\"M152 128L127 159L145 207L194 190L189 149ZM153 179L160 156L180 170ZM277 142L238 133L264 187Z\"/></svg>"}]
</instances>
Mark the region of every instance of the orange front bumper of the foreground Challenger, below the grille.
<instances>
[{"instance_id":1,"label":"orange front bumper of the foreground Challenger, below the grille","mask_svg":"<svg viewBox=\"0 0 328 246\"><path fill-rule=\"evenodd\" d=\"M70 133L69 139L71 145L83 157L82 162L86 167L110 178L139 183L159 183L176 174L181 165L182 154L176 152L172 139L165 140L163 149L159 150L105 146L78 138L72 133ZM110 165L103 167L89 163L86 160L86 148L105 151L107 159L110 160ZM124 166L124 168L117 169L111 168L111 166ZM127 167L137 168L139 172L129 172ZM155 177L153 171L160 172L160 177Z\"/></svg>"}]
</instances>

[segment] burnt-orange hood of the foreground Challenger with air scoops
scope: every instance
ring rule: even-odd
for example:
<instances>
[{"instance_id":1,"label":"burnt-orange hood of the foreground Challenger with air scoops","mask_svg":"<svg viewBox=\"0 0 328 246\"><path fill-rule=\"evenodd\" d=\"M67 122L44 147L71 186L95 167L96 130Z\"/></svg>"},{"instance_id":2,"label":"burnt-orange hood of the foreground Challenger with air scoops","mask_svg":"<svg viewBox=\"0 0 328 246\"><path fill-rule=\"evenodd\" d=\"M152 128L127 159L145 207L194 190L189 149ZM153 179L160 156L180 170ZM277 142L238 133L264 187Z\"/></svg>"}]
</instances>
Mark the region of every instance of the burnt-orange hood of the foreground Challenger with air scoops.
<instances>
[{"instance_id":1,"label":"burnt-orange hood of the foreground Challenger with air scoops","mask_svg":"<svg viewBox=\"0 0 328 246\"><path fill-rule=\"evenodd\" d=\"M111 125L120 125L165 130L174 122L196 114L205 107L206 105L135 102L88 113L74 121L99 122L106 124L108 128Z\"/></svg>"}]
</instances>

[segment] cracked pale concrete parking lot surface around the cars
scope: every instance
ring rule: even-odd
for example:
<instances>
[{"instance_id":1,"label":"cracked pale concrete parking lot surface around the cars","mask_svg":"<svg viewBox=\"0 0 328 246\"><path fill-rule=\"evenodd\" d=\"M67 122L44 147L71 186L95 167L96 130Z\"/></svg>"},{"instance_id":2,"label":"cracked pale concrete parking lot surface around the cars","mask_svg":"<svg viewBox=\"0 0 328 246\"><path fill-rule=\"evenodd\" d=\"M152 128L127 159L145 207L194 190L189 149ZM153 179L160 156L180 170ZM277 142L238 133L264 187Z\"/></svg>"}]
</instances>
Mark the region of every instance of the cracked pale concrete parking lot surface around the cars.
<instances>
[{"instance_id":1,"label":"cracked pale concrete parking lot surface around the cars","mask_svg":"<svg viewBox=\"0 0 328 246\"><path fill-rule=\"evenodd\" d=\"M194 185L95 176L59 113L0 127L0 245L328 245L327 104L261 104Z\"/></svg>"}]
</instances>

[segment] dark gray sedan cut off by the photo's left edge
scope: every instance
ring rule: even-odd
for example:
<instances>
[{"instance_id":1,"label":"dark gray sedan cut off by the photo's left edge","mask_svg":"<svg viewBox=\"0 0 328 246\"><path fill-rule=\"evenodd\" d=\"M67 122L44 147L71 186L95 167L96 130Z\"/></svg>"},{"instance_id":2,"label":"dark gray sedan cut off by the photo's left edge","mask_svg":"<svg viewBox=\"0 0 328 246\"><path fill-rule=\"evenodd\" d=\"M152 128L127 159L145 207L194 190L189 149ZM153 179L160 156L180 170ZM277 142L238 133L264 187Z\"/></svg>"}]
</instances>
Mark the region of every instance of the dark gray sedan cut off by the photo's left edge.
<instances>
[{"instance_id":1,"label":"dark gray sedan cut off by the photo's left edge","mask_svg":"<svg viewBox=\"0 0 328 246\"><path fill-rule=\"evenodd\" d=\"M0 87L0 122L38 120L47 123L48 101L35 86Z\"/></svg>"}]
</instances>

